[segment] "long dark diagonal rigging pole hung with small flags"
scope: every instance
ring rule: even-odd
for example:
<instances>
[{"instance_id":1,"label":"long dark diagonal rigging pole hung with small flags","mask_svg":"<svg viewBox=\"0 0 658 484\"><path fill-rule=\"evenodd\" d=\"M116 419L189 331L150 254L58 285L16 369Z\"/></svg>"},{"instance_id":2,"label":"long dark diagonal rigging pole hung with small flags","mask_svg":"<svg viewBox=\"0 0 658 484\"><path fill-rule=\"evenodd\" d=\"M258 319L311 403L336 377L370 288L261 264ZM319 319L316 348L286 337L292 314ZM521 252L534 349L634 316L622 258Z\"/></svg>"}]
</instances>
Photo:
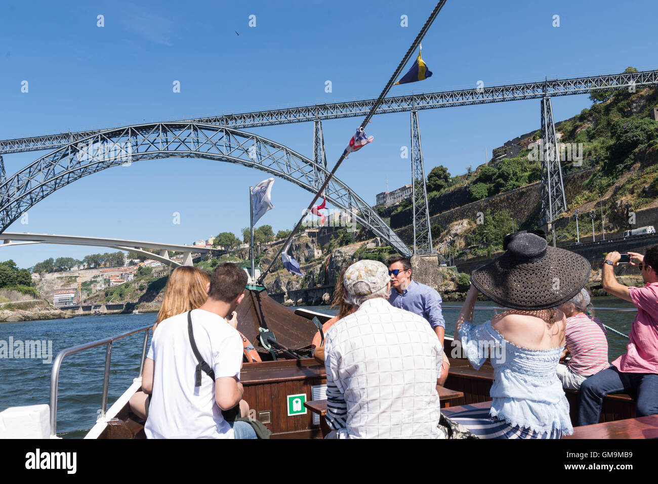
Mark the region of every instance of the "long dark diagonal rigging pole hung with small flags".
<instances>
[{"instance_id":1,"label":"long dark diagonal rigging pole hung with small flags","mask_svg":"<svg viewBox=\"0 0 658 484\"><path fill-rule=\"evenodd\" d=\"M386 97L386 95L388 94L388 91L390 91L391 87L393 87L393 84L394 84L395 80L399 77L399 75L401 74L401 72L402 72L403 68L405 67L405 65L407 64L407 62L409 62L409 59L411 58L411 55L416 51L416 48L418 47L418 45L420 45L420 41L422 41L423 37L425 36L427 31L429 30L430 26L432 26L432 22L434 22L434 19L436 18L438 13L443 8L443 5L445 5L446 1L447 0L440 0L436 4L436 7L434 7L434 10L430 14L429 18L425 21L425 24L420 29L420 32L418 32L418 35L416 36L413 43L411 44L411 47L409 47L409 50L405 54L405 57L403 57L402 61L400 61L400 63L397 66L397 69L395 69L395 72L393 72L393 75L391 76L391 78L386 83L386 86L384 86L384 90L382 90L382 93L379 95L379 97L377 98L375 103L372 105L372 107L370 108L370 111L368 111L368 114L364 118L363 122L361 122L361 126L360 126L359 129L362 132L365 130L368 122L370 122L370 118L372 118L374 112L377 110L377 108L380 106L380 104L382 104L382 102L384 101L384 97ZM272 258L272 262L270 262L270 265L267 266L267 268L265 269L265 272L261 273L261 277L258 278L257 283L259 283L259 284L263 283L263 279L265 279L265 276L267 275L267 273L270 272L270 269L272 268L272 266L274 266L274 262L276 262L276 260L278 260L280 254L283 251L286 244L288 242L290 242L290 239L293 237L293 235L295 235L295 233L299 229L299 226L301 226L301 222L303 222L303 220L307 216L307 214L309 214L311 212L311 210L313 209L313 205L315 205L315 202L318 200L318 198L320 198L320 193L324 192L324 189L329 184L331 179L334 177L334 174L336 173L336 170L338 170L338 167L343 162L345 157L346 157L345 152L343 152L343 154L340 155L340 158L338 158L338 162L336 162L336 166L334 166L333 170L331 170L331 172L327 176L326 180L324 180L324 183L322 183L322 186L320 187L320 189L318 189L318 193L316 193L315 197L313 197L313 200L309 204L309 208L307 208L307 210L304 210L303 215L299 219L299 222L297 222L297 225L295 225L295 228L293 228L293 230L290 232L290 235L288 235L288 239L286 239L286 242L278 250L278 252L274 256L274 258ZM351 210L351 207L350 207L350 210Z\"/></svg>"}]
</instances>

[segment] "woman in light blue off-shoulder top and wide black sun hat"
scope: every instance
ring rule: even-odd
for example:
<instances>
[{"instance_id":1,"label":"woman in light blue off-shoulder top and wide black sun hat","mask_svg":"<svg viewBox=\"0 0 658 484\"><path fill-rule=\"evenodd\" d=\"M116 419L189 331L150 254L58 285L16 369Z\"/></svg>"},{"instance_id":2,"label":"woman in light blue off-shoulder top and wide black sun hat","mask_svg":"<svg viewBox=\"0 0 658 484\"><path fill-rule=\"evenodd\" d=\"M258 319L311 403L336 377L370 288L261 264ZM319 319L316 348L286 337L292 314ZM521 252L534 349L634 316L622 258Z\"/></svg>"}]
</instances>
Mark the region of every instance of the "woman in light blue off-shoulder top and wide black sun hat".
<instances>
[{"instance_id":1,"label":"woman in light blue off-shoulder top and wide black sun hat","mask_svg":"<svg viewBox=\"0 0 658 484\"><path fill-rule=\"evenodd\" d=\"M488 358L492 362L492 406L450 418L484 439L559 439L573 428L556 372L566 325L556 306L580 291L591 266L525 231L507 235L503 249L502 256L472 272L455 329L476 370ZM479 292L509 310L472 324Z\"/></svg>"}]
</instances>

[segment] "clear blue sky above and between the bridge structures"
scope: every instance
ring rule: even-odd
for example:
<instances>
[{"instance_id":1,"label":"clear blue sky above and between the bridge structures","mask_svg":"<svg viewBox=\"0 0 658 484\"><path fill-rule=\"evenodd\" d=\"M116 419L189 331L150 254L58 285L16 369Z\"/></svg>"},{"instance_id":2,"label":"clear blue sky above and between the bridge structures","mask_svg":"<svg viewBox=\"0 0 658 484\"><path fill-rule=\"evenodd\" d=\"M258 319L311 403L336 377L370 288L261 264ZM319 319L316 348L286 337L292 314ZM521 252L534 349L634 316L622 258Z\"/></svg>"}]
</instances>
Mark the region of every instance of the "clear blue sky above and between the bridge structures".
<instances>
[{"instance_id":1,"label":"clear blue sky above and between the bridge structures","mask_svg":"<svg viewBox=\"0 0 658 484\"><path fill-rule=\"evenodd\" d=\"M0 18L0 137L39 135L376 97L434 7L434 1L13 2ZM105 27L97 27L97 15ZM250 28L249 15L256 16ZM409 26L401 27L401 15ZM560 26L553 27L553 15ZM391 95L567 78L658 66L658 5L641 0L528 2L449 0L423 41L434 73ZM236 31L240 36L236 35ZM22 80L29 92L21 93ZM172 82L180 81L180 93ZM332 93L325 93L325 81ZM556 120L590 105L586 95L553 101ZM426 172L482 164L493 147L539 128L540 101L421 111ZM360 122L324 122L333 166ZM253 130L312 157L313 124ZM376 116L374 142L346 160L338 178L374 196L411 180L409 113ZM13 174L45 153L4 157ZM209 160L117 166L72 183L28 211L9 231L191 243L249 224L248 192L264 172ZM274 210L260 224L291 228L312 195L276 180ZM173 224L180 212L180 224ZM108 251L111 249L107 249ZM6 247L0 260L29 267L93 247Z\"/></svg>"}]
</instances>

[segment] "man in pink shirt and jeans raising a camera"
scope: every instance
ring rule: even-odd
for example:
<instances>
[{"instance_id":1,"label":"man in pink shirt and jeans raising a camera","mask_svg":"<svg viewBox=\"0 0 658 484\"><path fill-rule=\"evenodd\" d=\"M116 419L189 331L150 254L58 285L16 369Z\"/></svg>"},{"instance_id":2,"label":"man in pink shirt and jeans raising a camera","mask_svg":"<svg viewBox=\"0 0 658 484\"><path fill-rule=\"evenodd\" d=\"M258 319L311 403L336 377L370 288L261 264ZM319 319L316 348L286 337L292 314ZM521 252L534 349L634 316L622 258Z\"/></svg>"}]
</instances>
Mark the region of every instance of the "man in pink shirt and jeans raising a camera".
<instances>
[{"instance_id":1,"label":"man in pink shirt and jeans raising a camera","mask_svg":"<svg viewBox=\"0 0 658 484\"><path fill-rule=\"evenodd\" d=\"M620 259L611 252L603 262L603 289L638 308L626 347L613 366L586 379L580 386L578 425L599 423L603 397L610 393L637 392L638 417L658 414L658 245L642 254L629 252L630 264L642 271L644 287L617 282L613 266Z\"/></svg>"}]
</instances>

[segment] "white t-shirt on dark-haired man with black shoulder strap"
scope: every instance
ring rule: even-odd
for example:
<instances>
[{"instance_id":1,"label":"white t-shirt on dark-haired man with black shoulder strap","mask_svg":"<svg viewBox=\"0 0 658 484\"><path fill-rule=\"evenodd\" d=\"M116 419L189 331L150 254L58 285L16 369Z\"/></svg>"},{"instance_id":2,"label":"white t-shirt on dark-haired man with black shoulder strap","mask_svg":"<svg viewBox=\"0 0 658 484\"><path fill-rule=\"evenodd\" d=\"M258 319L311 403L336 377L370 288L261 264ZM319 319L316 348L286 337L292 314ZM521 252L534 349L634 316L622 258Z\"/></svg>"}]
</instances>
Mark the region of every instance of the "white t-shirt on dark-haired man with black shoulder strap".
<instances>
[{"instance_id":1,"label":"white t-shirt on dark-haired man with black shoulder strap","mask_svg":"<svg viewBox=\"0 0 658 484\"><path fill-rule=\"evenodd\" d=\"M215 379L240 379L242 341L224 318L201 309L192 311L194 340ZM232 439L233 429L215 401L215 381L201 372L188 335L188 313L161 322L153 333L147 358L154 362L153 396L144 432L149 439Z\"/></svg>"}]
</instances>

